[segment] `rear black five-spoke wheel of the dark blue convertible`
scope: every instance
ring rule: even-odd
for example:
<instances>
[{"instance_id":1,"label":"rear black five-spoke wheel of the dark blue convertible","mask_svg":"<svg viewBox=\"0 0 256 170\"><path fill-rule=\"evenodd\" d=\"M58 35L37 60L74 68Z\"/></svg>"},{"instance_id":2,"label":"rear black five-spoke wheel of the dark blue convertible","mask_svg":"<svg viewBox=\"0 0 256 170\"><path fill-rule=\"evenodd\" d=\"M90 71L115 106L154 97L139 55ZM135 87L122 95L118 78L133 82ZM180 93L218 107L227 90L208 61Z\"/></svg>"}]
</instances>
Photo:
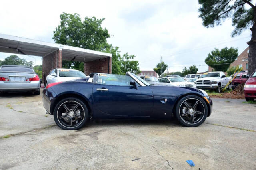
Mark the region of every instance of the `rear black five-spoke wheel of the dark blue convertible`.
<instances>
[{"instance_id":1,"label":"rear black five-spoke wheel of the dark blue convertible","mask_svg":"<svg viewBox=\"0 0 256 170\"><path fill-rule=\"evenodd\" d=\"M80 100L69 97L58 102L54 109L54 121L65 130L77 130L88 120L88 109Z\"/></svg>"}]
</instances>

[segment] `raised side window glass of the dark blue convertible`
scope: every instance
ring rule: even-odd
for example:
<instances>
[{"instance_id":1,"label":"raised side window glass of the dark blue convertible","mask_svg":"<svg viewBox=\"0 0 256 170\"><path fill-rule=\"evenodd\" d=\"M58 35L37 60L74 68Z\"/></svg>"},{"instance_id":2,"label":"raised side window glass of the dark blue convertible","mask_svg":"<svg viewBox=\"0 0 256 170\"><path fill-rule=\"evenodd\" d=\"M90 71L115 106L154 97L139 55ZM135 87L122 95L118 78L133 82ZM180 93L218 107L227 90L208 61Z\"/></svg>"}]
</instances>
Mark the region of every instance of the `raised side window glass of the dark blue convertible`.
<instances>
[{"instance_id":1,"label":"raised side window glass of the dark blue convertible","mask_svg":"<svg viewBox=\"0 0 256 170\"><path fill-rule=\"evenodd\" d=\"M133 79L127 75L102 74L99 76L97 84L130 86L131 80Z\"/></svg>"}]
</instances>

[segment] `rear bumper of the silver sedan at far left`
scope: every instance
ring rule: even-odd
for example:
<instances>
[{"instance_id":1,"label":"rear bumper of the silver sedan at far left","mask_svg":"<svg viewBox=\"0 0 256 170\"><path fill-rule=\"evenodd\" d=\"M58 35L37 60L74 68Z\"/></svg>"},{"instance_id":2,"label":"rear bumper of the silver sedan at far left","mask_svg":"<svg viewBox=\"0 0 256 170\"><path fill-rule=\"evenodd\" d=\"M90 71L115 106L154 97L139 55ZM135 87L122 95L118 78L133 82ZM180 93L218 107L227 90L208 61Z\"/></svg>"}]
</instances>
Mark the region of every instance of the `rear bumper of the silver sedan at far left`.
<instances>
[{"instance_id":1,"label":"rear bumper of the silver sedan at far left","mask_svg":"<svg viewBox=\"0 0 256 170\"><path fill-rule=\"evenodd\" d=\"M40 90L40 81L30 81L25 83L10 83L6 81L0 81L0 91L15 92L36 90Z\"/></svg>"}]
</instances>

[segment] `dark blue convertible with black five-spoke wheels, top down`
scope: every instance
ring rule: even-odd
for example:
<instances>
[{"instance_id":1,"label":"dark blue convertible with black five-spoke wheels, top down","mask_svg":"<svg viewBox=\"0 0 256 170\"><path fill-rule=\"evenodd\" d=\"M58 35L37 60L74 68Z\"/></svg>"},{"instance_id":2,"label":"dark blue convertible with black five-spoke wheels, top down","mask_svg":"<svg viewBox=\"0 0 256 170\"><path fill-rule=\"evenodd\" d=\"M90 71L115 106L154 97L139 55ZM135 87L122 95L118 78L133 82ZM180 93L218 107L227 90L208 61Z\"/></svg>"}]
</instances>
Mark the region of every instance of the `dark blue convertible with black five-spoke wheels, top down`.
<instances>
[{"instance_id":1,"label":"dark blue convertible with black five-spoke wheels, top down","mask_svg":"<svg viewBox=\"0 0 256 170\"><path fill-rule=\"evenodd\" d=\"M137 75L94 75L49 84L43 91L46 113L66 130L81 128L88 119L170 119L187 127L202 124L212 112L207 93L190 87L149 85Z\"/></svg>"}]
</instances>

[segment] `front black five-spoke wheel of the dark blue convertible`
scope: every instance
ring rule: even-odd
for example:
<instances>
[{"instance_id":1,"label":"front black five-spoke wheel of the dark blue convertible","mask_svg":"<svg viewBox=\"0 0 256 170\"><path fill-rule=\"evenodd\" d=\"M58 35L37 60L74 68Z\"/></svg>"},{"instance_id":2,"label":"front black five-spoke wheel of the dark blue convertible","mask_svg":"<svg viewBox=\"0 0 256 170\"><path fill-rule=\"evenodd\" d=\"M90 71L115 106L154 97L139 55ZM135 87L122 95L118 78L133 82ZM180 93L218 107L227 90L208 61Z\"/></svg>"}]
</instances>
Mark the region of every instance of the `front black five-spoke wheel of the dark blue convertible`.
<instances>
[{"instance_id":1,"label":"front black five-spoke wheel of the dark blue convertible","mask_svg":"<svg viewBox=\"0 0 256 170\"><path fill-rule=\"evenodd\" d=\"M208 114L206 102L196 95L188 95L180 99L176 105L178 121L187 127L201 125Z\"/></svg>"}]
</instances>

